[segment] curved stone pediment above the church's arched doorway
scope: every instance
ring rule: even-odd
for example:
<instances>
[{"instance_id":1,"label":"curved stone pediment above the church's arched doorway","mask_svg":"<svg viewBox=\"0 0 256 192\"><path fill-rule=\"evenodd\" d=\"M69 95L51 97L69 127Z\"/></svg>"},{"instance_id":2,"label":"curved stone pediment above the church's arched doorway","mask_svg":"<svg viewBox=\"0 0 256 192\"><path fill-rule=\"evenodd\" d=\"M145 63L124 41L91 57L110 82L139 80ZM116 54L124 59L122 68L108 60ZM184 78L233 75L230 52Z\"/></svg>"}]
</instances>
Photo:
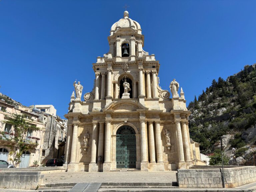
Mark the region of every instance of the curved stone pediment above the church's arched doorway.
<instances>
[{"instance_id":1,"label":"curved stone pediment above the church's arched doorway","mask_svg":"<svg viewBox=\"0 0 256 192\"><path fill-rule=\"evenodd\" d=\"M112 101L107 107L102 109L102 111L115 111L115 112L127 112L127 111L137 111L138 109L148 110L147 107L144 107L138 101L132 100L120 100L120 101Z\"/></svg>"}]
</instances>

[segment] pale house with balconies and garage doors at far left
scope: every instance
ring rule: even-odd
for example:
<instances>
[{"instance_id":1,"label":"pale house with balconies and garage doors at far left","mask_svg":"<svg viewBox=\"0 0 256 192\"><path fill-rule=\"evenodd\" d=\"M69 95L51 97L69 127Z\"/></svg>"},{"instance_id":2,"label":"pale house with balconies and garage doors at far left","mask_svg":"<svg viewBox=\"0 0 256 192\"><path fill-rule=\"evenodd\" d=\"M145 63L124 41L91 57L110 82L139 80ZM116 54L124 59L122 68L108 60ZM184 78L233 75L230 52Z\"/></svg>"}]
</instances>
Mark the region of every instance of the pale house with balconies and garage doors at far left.
<instances>
[{"instance_id":1,"label":"pale house with balconies and garage doors at far left","mask_svg":"<svg viewBox=\"0 0 256 192\"><path fill-rule=\"evenodd\" d=\"M0 160L10 162L9 153L13 150L12 147L16 142L14 140L14 127L4 122L10 119L11 114L14 113L25 114L27 121L31 125L35 125L39 128L38 131L28 130L27 135L24 137L24 141L26 141L26 145L29 146L30 149L23 152L19 167L29 167L33 165L34 161L39 162L41 159L45 125L40 121L38 114L15 108L4 100L0 100Z\"/></svg>"}]
</instances>

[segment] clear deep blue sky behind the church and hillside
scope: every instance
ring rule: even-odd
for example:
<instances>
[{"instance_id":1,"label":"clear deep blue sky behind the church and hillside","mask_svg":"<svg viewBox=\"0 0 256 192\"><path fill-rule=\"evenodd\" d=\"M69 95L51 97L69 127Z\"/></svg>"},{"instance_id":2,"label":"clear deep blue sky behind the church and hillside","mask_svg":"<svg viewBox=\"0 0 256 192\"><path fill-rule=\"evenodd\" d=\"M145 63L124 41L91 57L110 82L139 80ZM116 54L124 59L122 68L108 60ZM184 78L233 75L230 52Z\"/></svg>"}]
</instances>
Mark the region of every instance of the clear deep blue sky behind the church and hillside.
<instances>
[{"instance_id":1,"label":"clear deep blue sky behind the church and hillside","mask_svg":"<svg viewBox=\"0 0 256 192\"><path fill-rule=\"evenodd\" d=\"M108 52L125 4L161 64L160 86L176 78L187 104L212 79L256 63L255 0L1 0L0 92L26 106L52 104L63 117L75 79L83 94L92 90L92 63Z\"/></svg>"}]
</instances>

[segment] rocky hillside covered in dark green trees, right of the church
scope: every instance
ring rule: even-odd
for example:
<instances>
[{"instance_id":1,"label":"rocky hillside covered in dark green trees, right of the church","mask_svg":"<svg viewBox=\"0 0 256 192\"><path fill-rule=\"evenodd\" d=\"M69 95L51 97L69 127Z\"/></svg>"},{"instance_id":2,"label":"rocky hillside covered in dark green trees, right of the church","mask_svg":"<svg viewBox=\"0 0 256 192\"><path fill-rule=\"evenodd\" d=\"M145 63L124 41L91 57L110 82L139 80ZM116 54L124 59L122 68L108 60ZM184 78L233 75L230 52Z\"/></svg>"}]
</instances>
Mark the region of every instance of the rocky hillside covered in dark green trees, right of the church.
<instances>
[{"instance_id":1,"label":"rocky hillside covered in dark green trees, right of the church","mask_svg":"<svg viewBox=\"0 0 256 192\"><path fill-rule=\"evenodd\" d=\"M214 79L198 98L195 96L188 106L192 112L190 137L201 144L202 153L210 154L219 151L223 136L229 163L249 164L253 155L250 149L256 147L255 109L256 64L244 66L226 80Z\"/></svg>"}]
</instances>

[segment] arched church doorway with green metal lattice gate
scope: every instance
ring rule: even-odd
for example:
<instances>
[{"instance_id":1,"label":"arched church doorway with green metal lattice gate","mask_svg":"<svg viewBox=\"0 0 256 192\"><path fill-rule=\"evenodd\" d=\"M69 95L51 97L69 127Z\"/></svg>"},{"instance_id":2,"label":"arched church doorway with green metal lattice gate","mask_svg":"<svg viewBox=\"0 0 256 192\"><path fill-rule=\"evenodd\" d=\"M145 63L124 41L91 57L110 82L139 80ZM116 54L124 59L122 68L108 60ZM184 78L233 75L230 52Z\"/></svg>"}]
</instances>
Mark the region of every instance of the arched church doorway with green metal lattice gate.
<instances>
[{"instance_id":1,"label":"arched church doorway with green metal lattice gate","mask_svg":"<svg viewBox=\"0 0 256 192\"><path fill-rule=\"evenodd\" d=\"M135 131L128 125L116 132L116 168L136 168Z\"/></svg>"}]
</instances>

